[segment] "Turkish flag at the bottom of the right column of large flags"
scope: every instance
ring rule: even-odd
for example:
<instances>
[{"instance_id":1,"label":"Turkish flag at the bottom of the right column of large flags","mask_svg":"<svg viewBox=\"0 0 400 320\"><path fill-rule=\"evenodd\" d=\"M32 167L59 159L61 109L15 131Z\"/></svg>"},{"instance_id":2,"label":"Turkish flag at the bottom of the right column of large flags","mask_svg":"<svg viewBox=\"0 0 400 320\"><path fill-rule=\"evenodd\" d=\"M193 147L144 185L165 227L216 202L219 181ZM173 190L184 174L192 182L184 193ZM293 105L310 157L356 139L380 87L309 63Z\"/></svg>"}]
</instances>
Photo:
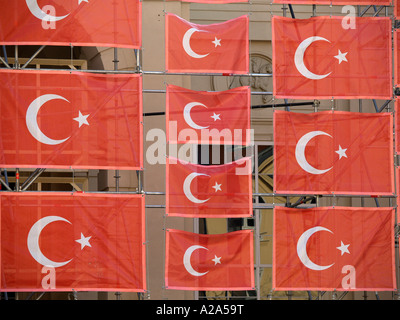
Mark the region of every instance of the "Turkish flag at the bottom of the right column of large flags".
<instances>
[{"instance_id":1,"label":"Turkish flag at the bottom of the right column of large flags","mask_svg":"<svg viewBox=\"0 0 400 320\"><path fill-rule=\"evenodd\" d=\"M275 290L396 289L394 209L275 207Z\"/></svg>"}]
</instances>

